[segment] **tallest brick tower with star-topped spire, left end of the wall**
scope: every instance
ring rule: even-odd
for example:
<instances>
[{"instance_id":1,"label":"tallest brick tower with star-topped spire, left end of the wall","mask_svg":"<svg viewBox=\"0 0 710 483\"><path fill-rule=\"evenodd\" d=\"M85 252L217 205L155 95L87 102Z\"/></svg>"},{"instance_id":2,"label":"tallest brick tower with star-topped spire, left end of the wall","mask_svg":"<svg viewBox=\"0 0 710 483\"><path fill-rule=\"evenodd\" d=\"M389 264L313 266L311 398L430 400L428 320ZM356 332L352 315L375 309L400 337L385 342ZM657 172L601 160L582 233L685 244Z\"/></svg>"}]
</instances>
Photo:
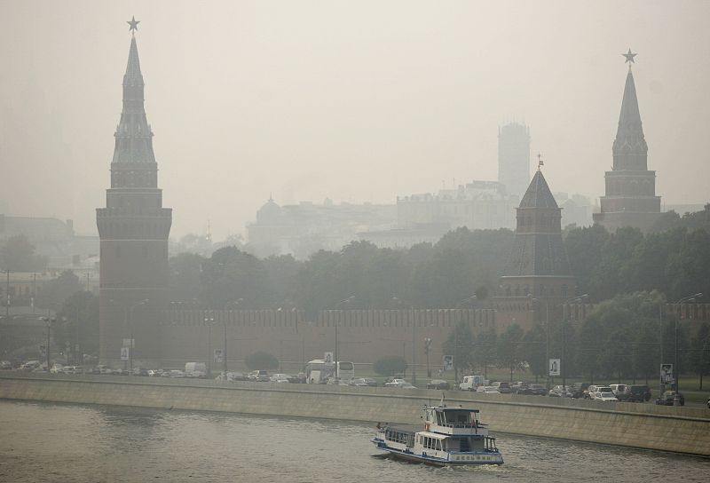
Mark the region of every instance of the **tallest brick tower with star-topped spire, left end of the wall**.
<instances>
[{"instance_id":1,"label":"tallest brick tower with star-topped spire, left end of the wall","mask_svg":"<svg viewBox=\"0 0 710 483\"><path fill-rule=\"evenodd\" d=\"M106 190L106 208L96 210L101 257L99 359L125 368L162 356L159 322L167 305L172 221L171 210L162 207L153 131L143 106L138 21L128 23L132 36L121 121L114 134L111 187Z\"/></svg>"}]
</instances>

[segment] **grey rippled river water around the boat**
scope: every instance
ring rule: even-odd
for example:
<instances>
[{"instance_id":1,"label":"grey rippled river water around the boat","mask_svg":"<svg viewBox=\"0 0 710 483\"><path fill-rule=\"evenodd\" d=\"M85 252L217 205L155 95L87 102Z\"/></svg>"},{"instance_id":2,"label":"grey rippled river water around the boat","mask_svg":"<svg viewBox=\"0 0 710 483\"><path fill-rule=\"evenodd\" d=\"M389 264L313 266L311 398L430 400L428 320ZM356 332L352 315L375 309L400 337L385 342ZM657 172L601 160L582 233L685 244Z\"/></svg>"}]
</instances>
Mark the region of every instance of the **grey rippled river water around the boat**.
<instances>
[{"instance_id":1,"label":"grey rippled river water around the boat","mask_svg":"<svg viewBox=\"0 0 710 483\"><path fill-rule=\"evenodd\" d=\"M374 431L347 421L0 401L0 481L710 480L704 458L506 434L500 467L432 468L371 457Z\"/></svg>"}]
</instances>

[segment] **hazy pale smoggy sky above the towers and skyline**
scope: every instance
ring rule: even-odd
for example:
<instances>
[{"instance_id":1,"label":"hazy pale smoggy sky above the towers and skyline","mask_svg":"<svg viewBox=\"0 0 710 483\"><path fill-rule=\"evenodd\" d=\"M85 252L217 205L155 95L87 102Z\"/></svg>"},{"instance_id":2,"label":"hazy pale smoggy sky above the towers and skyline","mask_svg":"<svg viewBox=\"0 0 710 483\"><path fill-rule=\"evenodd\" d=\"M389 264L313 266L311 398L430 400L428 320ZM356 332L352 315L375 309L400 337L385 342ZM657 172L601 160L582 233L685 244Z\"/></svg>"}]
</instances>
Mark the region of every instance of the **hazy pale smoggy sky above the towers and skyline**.
<instances>
[{"instance_id":1,"label":"hazy pale smoggy sky above the towers and skyline","mask_svg":"<svg viewBox=\"0 0 710 483\"><path fill-rule=\"evenodd\" d=\"M496 179L512 120L598 198L629 48L657 194L710 201L710 2L2 0L0 213L96 233L133 15L175 237Z\"/></svg>"}]
</instances>

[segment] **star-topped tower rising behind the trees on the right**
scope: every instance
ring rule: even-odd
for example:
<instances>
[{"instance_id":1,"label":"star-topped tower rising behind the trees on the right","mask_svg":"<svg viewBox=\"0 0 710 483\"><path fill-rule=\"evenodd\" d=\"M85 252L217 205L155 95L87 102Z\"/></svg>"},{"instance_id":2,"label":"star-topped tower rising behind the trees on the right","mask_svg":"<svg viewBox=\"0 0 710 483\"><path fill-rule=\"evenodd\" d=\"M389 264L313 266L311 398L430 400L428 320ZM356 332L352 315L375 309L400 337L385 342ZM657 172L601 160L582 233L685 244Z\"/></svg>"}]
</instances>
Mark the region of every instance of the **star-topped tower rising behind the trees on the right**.
<instances>
[{"instance_id":1,"label":"star-topped tower rising behind the trees on the right","mask_svg":"<svg viewBox=\"0 0 710 483\"><path fill-rule=\"evenodd\" d=\"M633 62L635 54L624 54ZM656 195L656 171L648 169L648 145L643 137L631 63L628 66L619 127L611 148L613 165L604 175L605 194L594 221L608 231L635 226L647 231L659 218L660 196Z\"/></svg>"}]
</instances>

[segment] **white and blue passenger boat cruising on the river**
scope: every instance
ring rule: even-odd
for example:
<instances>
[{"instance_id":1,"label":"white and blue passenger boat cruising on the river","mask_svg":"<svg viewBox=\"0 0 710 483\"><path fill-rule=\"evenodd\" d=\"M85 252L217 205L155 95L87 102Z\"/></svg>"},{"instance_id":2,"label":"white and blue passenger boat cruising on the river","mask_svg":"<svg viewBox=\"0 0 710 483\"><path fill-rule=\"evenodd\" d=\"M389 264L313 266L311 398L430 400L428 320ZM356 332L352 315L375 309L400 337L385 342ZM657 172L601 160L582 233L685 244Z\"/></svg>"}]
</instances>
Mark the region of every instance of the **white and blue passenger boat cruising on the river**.
<instances>
[{"instance_id":1,"label":"white and blue passenger boat cruising on the river","mask_svg":"<svg viewBox=\"0 0 710 483\"><path fill-rule=\"evenodd\" d=\"M383 453L434 466L502 464L503 455L479 420L478 409L424 406L421 425L377 424L372 442Z\"/></svg>"}]
</instances>

